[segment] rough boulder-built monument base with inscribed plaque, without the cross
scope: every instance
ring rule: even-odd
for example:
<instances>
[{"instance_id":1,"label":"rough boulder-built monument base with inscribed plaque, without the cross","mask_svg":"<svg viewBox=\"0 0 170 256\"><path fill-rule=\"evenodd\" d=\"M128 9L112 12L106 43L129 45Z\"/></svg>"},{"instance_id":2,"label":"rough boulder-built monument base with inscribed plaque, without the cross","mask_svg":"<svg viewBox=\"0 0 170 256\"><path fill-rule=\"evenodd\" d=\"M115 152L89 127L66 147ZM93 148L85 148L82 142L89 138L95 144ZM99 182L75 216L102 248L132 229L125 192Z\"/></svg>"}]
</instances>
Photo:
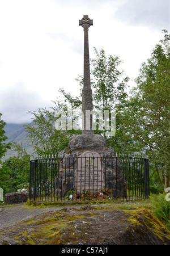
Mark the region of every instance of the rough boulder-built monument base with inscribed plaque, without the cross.
<instances>
[{"instance_id":1,"label":"rough boulder-built monument base with inscribed plaque, without the cross","mask_svg":"<svg viewBox=\"0 0 170 256\"><path fill-rule=\"evenodd\" d=\"M60 156L56 194L66 196L73 191L126 198L126 182L113 149L107 148L101 135L76 135Z\"/></svg>"}]
</instances>

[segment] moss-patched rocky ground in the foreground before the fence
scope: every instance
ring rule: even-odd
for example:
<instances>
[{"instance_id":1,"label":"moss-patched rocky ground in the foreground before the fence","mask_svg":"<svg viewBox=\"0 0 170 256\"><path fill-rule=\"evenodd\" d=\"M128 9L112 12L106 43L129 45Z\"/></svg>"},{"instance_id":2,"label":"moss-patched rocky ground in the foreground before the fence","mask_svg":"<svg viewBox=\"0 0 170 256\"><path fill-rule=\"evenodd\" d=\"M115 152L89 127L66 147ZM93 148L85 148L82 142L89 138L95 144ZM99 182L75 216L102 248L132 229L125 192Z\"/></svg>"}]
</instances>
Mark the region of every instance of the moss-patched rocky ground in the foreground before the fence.
<instances>
[{"instance_id":1,"label":"moss-patched rocky ground in the foreground before the fence","mask_svg":"<svg viewBox=\"0 0 170 256\"><path fill-rule=\"evenodd\" d=\"M1 208L0 244L170 244L170 232L148 209L137 204L126 206L126 210L115 205Z\"/></svg>"}]
</instances>

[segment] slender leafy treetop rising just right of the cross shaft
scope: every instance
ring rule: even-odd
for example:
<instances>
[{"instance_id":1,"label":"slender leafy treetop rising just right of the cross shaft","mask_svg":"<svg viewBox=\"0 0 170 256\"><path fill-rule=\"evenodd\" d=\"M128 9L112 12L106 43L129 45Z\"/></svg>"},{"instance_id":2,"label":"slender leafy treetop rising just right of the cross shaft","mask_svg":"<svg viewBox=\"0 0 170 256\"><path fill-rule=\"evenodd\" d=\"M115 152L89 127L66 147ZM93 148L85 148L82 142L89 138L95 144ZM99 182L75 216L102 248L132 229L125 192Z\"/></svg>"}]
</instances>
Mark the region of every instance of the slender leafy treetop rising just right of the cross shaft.
<instances>
[{"instance_id":1,"label":"slender leafy treetop rising just right of the cross shaft","mask_svg":"<svg viewBox=\"0 0 170 256\"><path fill-rule=\"evenodd\" d=\"M122 60L118 56L107 56L104 49L94 48L96 58L91 60L92 88L94 89L94 107L97 110L114 110L127 94L125 89L129 77L120 71Z\"/></svg>"}]
</instances>

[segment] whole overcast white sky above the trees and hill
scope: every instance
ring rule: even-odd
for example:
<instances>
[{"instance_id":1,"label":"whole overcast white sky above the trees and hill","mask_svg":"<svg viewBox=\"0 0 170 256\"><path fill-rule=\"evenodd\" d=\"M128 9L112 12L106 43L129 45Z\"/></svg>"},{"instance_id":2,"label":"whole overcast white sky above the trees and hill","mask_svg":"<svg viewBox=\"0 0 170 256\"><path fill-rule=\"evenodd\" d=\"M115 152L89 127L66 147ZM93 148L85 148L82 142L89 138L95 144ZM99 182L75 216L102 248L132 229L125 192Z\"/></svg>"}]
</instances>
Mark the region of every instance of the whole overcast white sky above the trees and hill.
<instances>
[{"instance_id":1,"label":"whole overcast white sky above the trees and hill","mask_svg":"<svg viewBox=\"0 0 170 256\"><path fill-rule=\"evenodd\" d=\"M7 123L29 123L29 110L53 106L59 88L79 93L83 28L94 20L93 48L119 55L134 79L170 31L169 0L0 0L0 112ZM134 85L131 82L131 85Z\"/></svg>"}]
</instances>

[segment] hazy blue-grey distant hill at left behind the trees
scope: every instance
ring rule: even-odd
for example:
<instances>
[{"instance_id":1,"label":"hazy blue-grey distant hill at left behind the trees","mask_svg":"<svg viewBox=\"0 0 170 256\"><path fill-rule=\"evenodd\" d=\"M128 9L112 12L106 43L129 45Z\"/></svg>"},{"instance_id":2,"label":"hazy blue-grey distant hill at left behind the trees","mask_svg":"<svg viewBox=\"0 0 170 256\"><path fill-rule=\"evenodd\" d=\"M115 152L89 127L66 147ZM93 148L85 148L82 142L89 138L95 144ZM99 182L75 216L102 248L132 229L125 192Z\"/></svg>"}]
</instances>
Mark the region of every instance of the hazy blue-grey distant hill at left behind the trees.
<instances>
[{"instance_id":1,"label":"hazy blue-grey distant hill at left behind the trees","mask_svg":"<svg viewBox=\"0 0 170 256\"><path fill-rule=\"evenodd\" d=\"M23 127L24 124L6 124L4 130L5 135L8 139L5 141L8 142L17 142L20 144L22 142L23 148L27 151L28 154L32 154L32 146L28 145L27 142L27 132ZM13 157L16 155L16 152L13 150L7 150L5 157L2 158L2 161L7 160L9 157Z\"/></svg>"}]
</instances>

